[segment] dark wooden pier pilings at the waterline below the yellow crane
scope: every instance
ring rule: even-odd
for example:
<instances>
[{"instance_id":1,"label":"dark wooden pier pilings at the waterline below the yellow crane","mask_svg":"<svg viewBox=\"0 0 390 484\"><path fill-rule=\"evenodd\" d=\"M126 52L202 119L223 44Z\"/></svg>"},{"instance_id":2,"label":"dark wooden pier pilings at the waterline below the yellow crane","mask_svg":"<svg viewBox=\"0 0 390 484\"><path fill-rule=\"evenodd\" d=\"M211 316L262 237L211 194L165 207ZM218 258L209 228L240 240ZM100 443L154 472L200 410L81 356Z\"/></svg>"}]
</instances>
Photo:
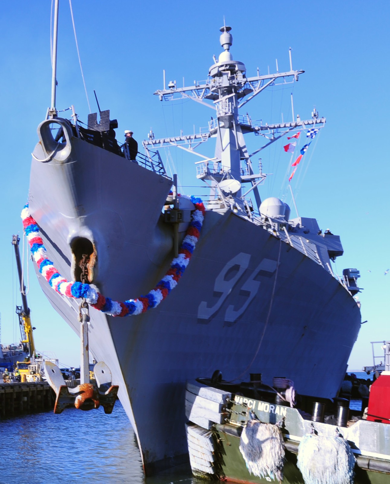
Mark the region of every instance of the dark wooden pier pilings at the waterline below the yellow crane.
<instances>
[{"instance_id":1,"label":"dark wooden pier pilings at the waterline below the yellow crane","mask_svg":"<svg viewBox=\"0 0 390 484\"><path fill-rule=\"evenodd\" d=\"M54 408L56 395L43 382L4 383L0 385L0 419L44 412Z\"/></svg>"}]
</instances>

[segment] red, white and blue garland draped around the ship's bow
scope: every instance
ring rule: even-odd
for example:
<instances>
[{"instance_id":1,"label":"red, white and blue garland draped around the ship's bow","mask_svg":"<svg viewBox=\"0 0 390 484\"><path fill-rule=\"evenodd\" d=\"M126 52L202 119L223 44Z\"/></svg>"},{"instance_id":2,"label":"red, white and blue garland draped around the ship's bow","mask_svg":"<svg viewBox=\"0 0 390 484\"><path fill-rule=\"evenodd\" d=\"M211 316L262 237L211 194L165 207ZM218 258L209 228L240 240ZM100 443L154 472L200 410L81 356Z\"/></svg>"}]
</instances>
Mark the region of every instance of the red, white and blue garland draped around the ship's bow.
<instances>
[{"instance_id":1,"label":"red, white and blue garland draped around the ship's bow","mask_svg":"<svg viewBox=\"0 0 390 484\"><path fill-rule=\"evenodd\" d=\"M43 244L38 224L29 213L29 204L24 206L20 216L27 240L29 241L32 257L39 268L39 272L58 294L74 299L85 298L92 307L102 313L109 316L123 317L141 314L155 308L177 286L199 240L204 219L205 209L202 199L191 197L191 201L195 205L195 210L191 213L191 222L180 246L178 257L173 258L170 269L145 296L139 296L137 299L129 299L124 302L106 298L89 284L69 282L62 277L54 267L53 262L47 257L46 247Z\"/></svg>"}]
</instances>

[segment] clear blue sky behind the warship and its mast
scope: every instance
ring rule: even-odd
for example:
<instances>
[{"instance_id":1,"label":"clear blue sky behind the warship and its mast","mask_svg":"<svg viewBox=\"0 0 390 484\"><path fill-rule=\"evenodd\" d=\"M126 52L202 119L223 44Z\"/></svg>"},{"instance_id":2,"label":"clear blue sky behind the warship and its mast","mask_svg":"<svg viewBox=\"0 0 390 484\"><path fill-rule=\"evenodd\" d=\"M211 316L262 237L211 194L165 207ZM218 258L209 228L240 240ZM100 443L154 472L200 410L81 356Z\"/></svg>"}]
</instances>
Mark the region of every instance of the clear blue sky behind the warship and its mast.
<instances>
[{"instance_id":1,"label":"clear blue sky behind the warship and its mast","mask_svg":"<svg viewBox=\"0 0 390 484\"><path fill-rule=\"evenodd\" d=\"M19 333L14 315L19 302L11 236L22 233L20 211L29 188L29 167L36 128L50 104L50 0L5 2L0 19L1 212L0 237L1 342ZM247 75L289 69L305 70L293 88L274 89L246 105L253 120L281 121L295 114L309 118L313 106L327 125L305 155L292 188L301 216L315 217L322 229L341 236L345 254L333 270L361 271L359 295L362 328L350 358L350 369L371 364L370 341L389 339L389 54L388 1L279 1L240 3L214 1L73 0L73 14L92 111L93 90L101 109L117 118L117 138L131 129L140 142L150 128L156 136L184 133L206 126L211 109L190 101L160 103L152 93L167 82L186 85L207 76L212 55L221 51L223 15L232 26L233 57L244 61ZM82 121L88 106L72 31L69 2L60 1L57 107L73 104ZM245 108L245 110L246 110ZM244 113L245 114L245 113ZM204 149L213 153L213 141ZM259 138L247 139L249 147ZM277 145L275 143L275 145ZM263 152L263 170L274 173L262 198L281 197L289 156L282 144ZM183 192L199 193L197 161L183 151L170 151ZM165 159L163 154L163 159ZM256 160L256 158L255 158ZM287 199L290 202L289 199ZM14 272L13 272L14 271ZM14 275L13 275L14 274ZM54 351L60 362L79 364L79 340L47 302L30 267L29 306L36 326L36 346ZM129 297L137 295L129 294ZM16 299L15 299L16 298ZM299 315L298 315L299 316ZM131 321L129 319L129 324ZM17 332L16 332L17 330ZM321 348L318 348L321 351Z\"/></svg>"}]
</instances>

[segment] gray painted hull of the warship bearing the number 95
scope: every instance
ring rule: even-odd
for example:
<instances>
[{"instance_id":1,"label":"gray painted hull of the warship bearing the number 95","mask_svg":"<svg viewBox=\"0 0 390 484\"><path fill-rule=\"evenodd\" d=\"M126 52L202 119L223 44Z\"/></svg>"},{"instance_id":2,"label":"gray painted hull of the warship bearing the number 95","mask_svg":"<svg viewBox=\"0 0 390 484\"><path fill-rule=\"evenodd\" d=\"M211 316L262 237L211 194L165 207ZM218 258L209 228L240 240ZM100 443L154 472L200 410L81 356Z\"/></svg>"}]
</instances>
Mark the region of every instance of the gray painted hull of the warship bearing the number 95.
<instances>
[{"instance_id":1,"label":"gray painted hull of the warship bearing the number 95","mask_svg":"<svg viewBox=\"0 0 390 484\"><path fill-rule=\"evenodd\" d=\"M45 159L41 144L34 156ZM85 237L97 251L94 284L124 301L147 293L169 269L172 229L161 210L171 185L72 138L66 160L32 160L30 212L64 277L72 280L72 241ZM78 302L37 274L79 333ZM330 272L231 211L206 212L188 268L158 308L129 318L90 315L90 349L119 385L146 466L187 452L187 379L216 369L227 380L285 376L301 394L332 398L361 322L357 303Z\"/></svg>"}]
</instances>

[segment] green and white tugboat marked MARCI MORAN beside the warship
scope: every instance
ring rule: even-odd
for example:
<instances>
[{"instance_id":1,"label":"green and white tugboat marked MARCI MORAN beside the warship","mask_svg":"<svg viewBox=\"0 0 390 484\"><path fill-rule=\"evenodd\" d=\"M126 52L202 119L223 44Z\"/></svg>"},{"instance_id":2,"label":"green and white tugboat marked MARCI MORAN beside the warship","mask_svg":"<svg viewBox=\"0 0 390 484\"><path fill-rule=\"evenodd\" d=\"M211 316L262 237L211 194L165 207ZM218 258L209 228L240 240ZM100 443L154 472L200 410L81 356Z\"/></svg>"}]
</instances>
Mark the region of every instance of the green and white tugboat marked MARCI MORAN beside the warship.
<instances>
[{"instance_id":1,"label":"green and white tugboat marked MARCI MORAN beside the warship","mask_svg":"<svg viewBox=\"0 0 390 484\"><path fill-rule=\"evenodd\" d=\"M346 398L299 395L287 378L264 384L212 378L187 382L192 473L205 479L265 484L390 482L390 371L371 385L368 407Z\"/></svg>"}]
</instances>

